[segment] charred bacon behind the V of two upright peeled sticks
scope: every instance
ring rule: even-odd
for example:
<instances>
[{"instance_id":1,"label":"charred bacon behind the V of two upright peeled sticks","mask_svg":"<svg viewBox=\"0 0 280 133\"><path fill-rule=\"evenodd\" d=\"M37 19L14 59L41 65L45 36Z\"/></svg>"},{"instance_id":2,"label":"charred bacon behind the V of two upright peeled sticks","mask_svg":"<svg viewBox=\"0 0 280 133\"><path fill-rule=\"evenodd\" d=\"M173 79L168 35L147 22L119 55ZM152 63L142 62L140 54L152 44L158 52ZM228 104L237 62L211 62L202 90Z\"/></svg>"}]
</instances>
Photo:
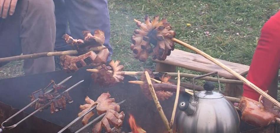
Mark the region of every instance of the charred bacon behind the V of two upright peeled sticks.
<instances>
[{"instance_id":1,"label":"charred bacon behind the V of two upright peeled sticks","mask_svg":"<svg viewBox=\"0 0 280 133\"><path fill-rule=\"evenodd\" d=\"M160 79L162 81L162 83L156 83L152 80L152 84L154 85L154 89L157 94L157 98L159 100L163 101L165 99L170 98L173 95L172 92L170 92L168 89L166 89L166 87L169 88L170 85L173 85L171 82L168 82L168 80L171 78L170 75L164 73L164 74L157 75L158 77L155 77L155 75L153 74L153 72L151 70L146 69L145 71L148 71L151 78ZM151 92L149 90L149 86L148 86L145 74L142 74L140 79L142 81L144 81L144 85L140 85L142 92L144 93L144 95L146 95L146 97L148 99L152 100ZM174 86L172 86L172 87L174 87ZM174 89L171 88L170 90L174 90Z\"/></svg>"}]
</instances>

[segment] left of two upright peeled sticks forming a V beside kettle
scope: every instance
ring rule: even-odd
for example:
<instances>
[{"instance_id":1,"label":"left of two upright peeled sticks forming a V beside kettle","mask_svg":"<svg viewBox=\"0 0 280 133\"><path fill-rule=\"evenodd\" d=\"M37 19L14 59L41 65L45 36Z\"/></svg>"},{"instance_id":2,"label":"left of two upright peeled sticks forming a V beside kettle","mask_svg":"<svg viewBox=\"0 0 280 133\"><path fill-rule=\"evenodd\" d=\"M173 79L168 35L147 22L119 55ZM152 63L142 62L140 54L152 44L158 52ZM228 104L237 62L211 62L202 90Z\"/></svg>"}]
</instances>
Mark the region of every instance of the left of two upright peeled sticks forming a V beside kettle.
<instances>
[{"instance_id":1,"label":"left of two upright peeled sticks forming a V beside kettle","mask_svg":"<svg viewBox=\"0 0 280 133\"><path fill-rule=\"evenodd\" d=\"M145 72L145 75L146 75L147 82L149 84L149 89L150 89L151 95L152 95L152 97L154 99L154 103L156 104L157 110L159 111L159 115L162 118L164 126L167 128L167 131L169 133L172 133L172 130L169 127L168 120L167 120L167 118L166 118L166 116L165 116L165 114L164 114L164 112L162 110L162 106L160 105L159 100L157 99L157 95L156 95L156 92L154 90L153 84L151 82L150 75L149 75L149 73L147 71Z\"/></svg>"}]
</instances>

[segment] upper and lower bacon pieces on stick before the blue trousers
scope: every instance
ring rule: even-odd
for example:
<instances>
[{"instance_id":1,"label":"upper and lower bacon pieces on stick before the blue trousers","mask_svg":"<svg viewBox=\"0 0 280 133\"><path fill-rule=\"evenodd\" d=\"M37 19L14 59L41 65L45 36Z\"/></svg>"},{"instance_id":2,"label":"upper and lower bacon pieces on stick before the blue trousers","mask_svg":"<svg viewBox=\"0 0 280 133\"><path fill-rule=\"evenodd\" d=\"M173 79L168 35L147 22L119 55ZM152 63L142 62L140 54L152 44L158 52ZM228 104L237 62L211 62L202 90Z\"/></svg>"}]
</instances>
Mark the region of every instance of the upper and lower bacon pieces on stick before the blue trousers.
<instances>
[{"instance_id":1,"label":"upper and lower bacon pieces on stick before the blue trousers","mask_svg":"<svg viewBox=\"0 0 280 133\"><path fill-rule=\"evenodd\" d=\"M84 40L73 39L67 34L63 35L65 42L77 49L80 54L80 56L60 56L60 64L67 72L77 71L79 68L88 65L103 64L107 61L109 51L103 46L105 42L103 31L95 30L94 35L90 31L83 31L83 35ZM92 51L92 49L100 46L102 46L102 49Z\"/></svg>"}]
</instances>

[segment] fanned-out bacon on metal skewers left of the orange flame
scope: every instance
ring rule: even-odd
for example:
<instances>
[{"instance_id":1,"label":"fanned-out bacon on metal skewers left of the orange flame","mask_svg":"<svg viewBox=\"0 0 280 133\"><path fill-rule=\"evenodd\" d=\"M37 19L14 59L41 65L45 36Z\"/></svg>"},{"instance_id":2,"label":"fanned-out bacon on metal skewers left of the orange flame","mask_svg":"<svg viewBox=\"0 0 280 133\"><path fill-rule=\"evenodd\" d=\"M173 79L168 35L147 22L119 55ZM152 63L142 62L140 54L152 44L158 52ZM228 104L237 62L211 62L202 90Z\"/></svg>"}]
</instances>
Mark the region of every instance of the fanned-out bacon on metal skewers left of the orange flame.
<instances>
[{"instance_id":1,"label":"fanned-out bacon on metal skewers left of the orange flame","mask_svg":"<svg viewBox=\"0 0 280 133\"><path fill-rule=\"evenodd\" d=\"M88 111L90 107L97 105L96 110L97 114L101 115L102 113L106 113L106 115L103 117L103 119L95 124L93 128L93 133L100 133L102 127L105 127L107 132L111 132L110 124L112 124L114 127L119 128L124 119L124 113L123 111L121 113L118 113L120 111L120 106L115 103L114 98L110 98L111 95L109 93L102 93L96 101L91 100L88 96L85 98L86 104L81 105L80 109L82 110L78 116L82 115L84 112ZM94 115L93 111L90 111L88 114L86 114L83 117L82 123L84 125L88 124L89 119Z\"/></svg>"}]
</instances>

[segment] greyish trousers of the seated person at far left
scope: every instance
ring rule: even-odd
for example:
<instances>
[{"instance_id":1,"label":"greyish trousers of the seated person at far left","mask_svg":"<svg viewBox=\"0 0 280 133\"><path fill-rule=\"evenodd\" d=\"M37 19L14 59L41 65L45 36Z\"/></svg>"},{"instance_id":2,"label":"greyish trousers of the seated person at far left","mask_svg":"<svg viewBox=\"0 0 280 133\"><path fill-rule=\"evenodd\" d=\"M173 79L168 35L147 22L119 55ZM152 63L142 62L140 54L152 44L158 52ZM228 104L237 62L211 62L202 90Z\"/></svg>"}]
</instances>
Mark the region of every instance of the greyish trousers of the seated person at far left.
<instances>
[{"instance_id":1,"label":"greyish trousers of the seated person at far left","mask_svg":"<svg viewBox=\"0 0 280 133\"><path fill-rule=\"evenodd\" d=\"M54 8L52 0L19 0L14 15L0 18L0 58L52 52L56 32ZM27 75L55 71L54 57L26 59L23 69Z\"/></svg>"}]
</instances>

